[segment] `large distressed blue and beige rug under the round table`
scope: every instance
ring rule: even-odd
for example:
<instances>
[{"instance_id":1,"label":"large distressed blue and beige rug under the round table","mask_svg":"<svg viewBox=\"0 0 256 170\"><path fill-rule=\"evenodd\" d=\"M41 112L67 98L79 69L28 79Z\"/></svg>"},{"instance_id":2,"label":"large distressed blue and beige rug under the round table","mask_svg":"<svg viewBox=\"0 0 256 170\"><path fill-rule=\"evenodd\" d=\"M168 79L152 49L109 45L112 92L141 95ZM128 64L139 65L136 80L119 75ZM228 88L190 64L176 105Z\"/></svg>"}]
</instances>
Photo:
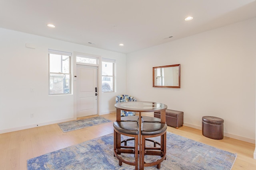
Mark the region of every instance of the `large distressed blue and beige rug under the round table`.
<instances>
[{"instance_id":1,"label":"large distressed blue and beige rug under the round table","mask_svg":"<svg viewBox=\"0 0 256 170\"><path fill-rule=\"evenodd\" d=\"M123 137L124 139L124 137ZM158 140L158 137L154 138ZM160 140L160 139L159 139ZM166 160L161 163L162 170L230 170L236 154L167 133ZM128 145L133 145L132 142ZM146 144L148 145L148 143ZM122 154L134 160L133 154ZM145 162L157 159L146 156ZM134 166L118 165L113 156L113 134L60 149L27 160L28 170L133 170ZM157 170L156 166L145 170Z\"/></svg>"}]
</instances>

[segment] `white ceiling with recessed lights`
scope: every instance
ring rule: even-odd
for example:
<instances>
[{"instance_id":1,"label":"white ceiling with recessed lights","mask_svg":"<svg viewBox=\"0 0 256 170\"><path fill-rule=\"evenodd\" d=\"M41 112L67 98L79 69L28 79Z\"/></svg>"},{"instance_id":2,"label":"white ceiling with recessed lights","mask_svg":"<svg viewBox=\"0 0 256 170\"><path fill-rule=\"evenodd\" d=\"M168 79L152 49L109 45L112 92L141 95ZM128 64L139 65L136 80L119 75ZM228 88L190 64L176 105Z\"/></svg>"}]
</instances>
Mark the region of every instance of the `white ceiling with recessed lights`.
<instances>
[{"instance_id":1,"label":"white ceiling with recessed lights","mask_svg":"<svg viewBox=\"0 0 256 170\"><path fill-rule=\"evenodd\" d=\"M120 53L256 17L255 0L0 0L0 7L2 28Z\"/></svg>"}]
</instances>

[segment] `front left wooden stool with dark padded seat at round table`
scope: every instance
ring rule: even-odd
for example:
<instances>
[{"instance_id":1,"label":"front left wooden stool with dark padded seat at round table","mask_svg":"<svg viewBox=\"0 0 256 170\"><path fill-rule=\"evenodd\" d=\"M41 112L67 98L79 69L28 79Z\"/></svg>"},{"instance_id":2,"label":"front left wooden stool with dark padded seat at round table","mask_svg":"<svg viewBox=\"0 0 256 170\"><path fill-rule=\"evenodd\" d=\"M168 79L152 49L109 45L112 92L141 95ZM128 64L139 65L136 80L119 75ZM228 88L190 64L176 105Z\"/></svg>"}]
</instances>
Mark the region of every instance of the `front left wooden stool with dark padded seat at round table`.
<instances>
[{"instance_id":1,"label":"front left wooden stool with dark padded seat at round table","mask_svg":"<svg viewBox=\"0 0 256 170\"><path fill-rule=\"evenodd\" d=\"M114 127L114 156L119 160L119 166L122 166L122 162L135 166L135 170L138 170L138 141L139 141L139 131L138 123L136 121L115 121L113 123ZM121 146L121 135L132 137L134 140L134 146ZM125 160L121 153L131 153L134 154L134 162Z\"/></svg>"}]
</instances>

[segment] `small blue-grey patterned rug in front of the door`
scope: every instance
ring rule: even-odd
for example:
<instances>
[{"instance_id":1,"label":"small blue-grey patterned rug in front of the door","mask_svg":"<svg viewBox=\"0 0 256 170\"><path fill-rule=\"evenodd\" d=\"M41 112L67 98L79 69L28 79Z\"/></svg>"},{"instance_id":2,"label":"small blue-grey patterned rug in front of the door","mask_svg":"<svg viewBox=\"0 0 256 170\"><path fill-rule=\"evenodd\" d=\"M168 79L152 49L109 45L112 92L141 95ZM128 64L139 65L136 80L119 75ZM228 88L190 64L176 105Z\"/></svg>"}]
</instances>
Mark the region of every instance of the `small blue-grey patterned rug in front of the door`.
<instances>
[{"instance_id":1,"label":"small blue-grey patterned rug in front of the door","mask_svg":"<svg viewBox=\"0 0 256 170\"><path fill-rule=\"evenodd\" d=\"M111 122L111 121L104 117L98 116L98 117L91 117L87 119L66 121L66 122L58 123L58 125L63 132L69 132L69 131L74 131L74 130L82 129L85 127L100 125L108 122Z\"/></svg>"}]
</instances>

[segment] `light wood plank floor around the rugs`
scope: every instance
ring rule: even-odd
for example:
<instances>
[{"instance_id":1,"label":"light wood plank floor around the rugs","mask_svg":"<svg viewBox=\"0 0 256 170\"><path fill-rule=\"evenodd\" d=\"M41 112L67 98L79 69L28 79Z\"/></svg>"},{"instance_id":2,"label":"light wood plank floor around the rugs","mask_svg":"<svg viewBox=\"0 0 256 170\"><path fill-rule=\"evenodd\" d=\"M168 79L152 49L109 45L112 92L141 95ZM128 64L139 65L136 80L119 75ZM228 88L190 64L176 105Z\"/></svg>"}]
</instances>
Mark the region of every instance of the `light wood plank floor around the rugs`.
<instances>
[{"instance_id":1,"label":"light wood plank floor around the rugs","mask_svg":"<svg viewBox=\"0 0 256 170\"><path fill-rule=\"evenodd\" d=\"M115 113L102 115L102 117L112 121L116 120ZM168 126L167 131L219 149L237 153L238 156L232 170L256 170L256 160L253 159L255 145L252 143L228 137L224 137L222 140L209 139L202 135L202 131L186 126L179 129ZM0 134L0 170L26 170L26 160L30 158L109 133L113 133L112 122L67 133L63 133L57 124L52 124Z\"/></svg>"}]
</instances>

